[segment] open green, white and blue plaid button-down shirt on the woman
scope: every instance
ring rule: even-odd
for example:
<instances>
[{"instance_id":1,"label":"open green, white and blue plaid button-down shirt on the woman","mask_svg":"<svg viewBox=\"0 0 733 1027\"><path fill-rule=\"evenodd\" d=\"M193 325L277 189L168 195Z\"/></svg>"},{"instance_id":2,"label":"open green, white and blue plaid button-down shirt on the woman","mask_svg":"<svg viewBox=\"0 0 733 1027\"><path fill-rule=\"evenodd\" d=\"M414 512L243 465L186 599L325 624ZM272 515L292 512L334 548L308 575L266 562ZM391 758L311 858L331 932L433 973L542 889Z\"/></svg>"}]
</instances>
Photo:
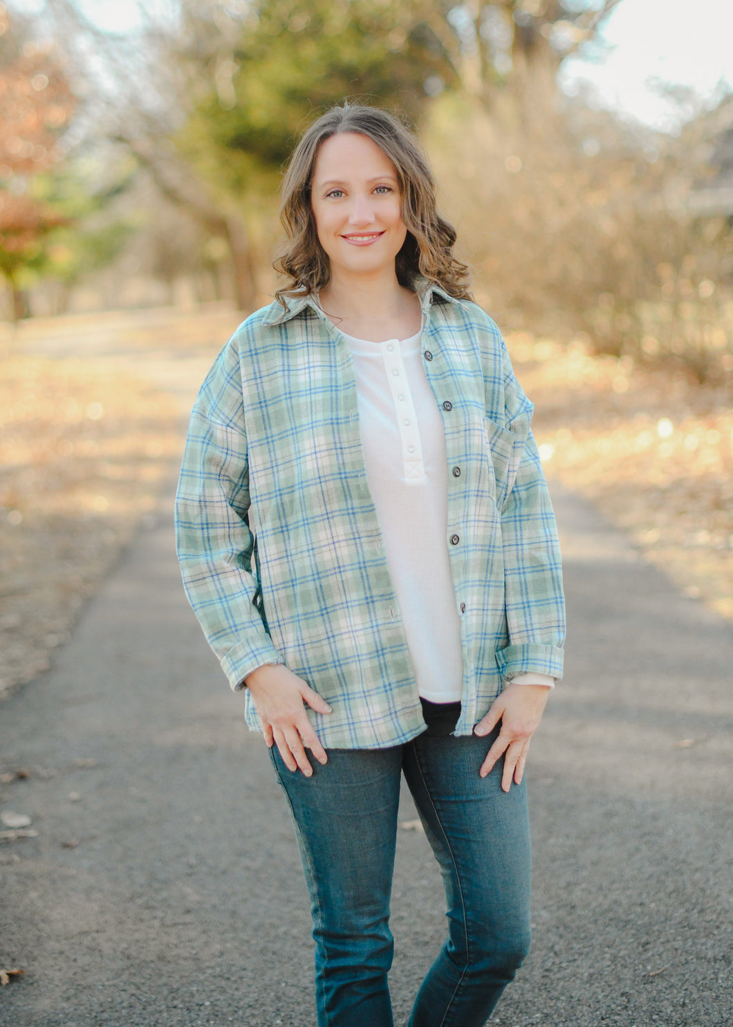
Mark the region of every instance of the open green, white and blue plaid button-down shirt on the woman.
<instances>
[{"instance_id":1,"label":"open green, white and blue plaid button-down shirt on the woman","mask_svg":"<svg viewBox=\"0 0 733 1027\"><path fill-rule=\"evenodd\" d=\"M464 679L456 734L507 680L562 677L564 599L533 406L479 307L424 279L425 373L449 466L448 536ZM310 298L258 310L191 414L177 495L188 598L233 688L282 662L332 707L325 748L394 746L425 724L366 484L347 341ZM261 729L246 692L245 716Z\"/></svg>"}]
</instances>

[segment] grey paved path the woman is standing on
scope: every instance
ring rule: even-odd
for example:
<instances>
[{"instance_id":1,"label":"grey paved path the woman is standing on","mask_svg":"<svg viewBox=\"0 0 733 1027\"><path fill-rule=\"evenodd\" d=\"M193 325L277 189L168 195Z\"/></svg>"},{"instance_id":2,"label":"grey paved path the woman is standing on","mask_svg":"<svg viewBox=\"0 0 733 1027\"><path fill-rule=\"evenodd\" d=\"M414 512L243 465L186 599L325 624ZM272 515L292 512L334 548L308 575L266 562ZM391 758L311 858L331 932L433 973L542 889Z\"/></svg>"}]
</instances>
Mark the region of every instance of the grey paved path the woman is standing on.
<instances>
[{"instance_id":1,"label":"grey paved path the woman is standing on","mask_svg":"<svg viewBox=\"0 0 733 1027\"><path fill-rule=\"evenodd\" d=\"M55 667L2 707L2 1027L311 1027L295 840L180 584L170 490ZM492 1024L733 1023L730 625L553 488L566 681L533 744L535 941ZM401 816L415 812L406 799ZM395 1023L442 930L399 832Z\"/></svg>"}]
</instances>

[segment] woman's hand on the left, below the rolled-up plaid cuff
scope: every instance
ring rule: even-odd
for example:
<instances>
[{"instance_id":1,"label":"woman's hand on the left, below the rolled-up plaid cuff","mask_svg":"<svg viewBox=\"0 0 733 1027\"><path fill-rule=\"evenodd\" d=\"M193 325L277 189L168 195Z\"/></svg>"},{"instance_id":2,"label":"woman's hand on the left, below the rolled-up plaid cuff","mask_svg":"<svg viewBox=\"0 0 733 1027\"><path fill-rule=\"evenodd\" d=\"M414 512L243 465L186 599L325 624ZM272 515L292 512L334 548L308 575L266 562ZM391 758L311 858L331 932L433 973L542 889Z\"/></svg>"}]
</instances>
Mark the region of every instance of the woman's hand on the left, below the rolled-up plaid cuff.
<instances>
[{"instance_id":1,"label":"woman's hand on the left, below the rolled-up plaid cuff","mask_svg":"<svg viewBox=\"0 0 733 1027\"><path fill-rule=\"evenodd\" d=\"M325 763L327 757L303 703L316 713L331 713L329 703L283 663L265 663L244 680L260 715L266 745L271 748L274 743L290 770L300 767L310 777L313 768L306 748L319 763Z\"/></svg>"}]
</instances>

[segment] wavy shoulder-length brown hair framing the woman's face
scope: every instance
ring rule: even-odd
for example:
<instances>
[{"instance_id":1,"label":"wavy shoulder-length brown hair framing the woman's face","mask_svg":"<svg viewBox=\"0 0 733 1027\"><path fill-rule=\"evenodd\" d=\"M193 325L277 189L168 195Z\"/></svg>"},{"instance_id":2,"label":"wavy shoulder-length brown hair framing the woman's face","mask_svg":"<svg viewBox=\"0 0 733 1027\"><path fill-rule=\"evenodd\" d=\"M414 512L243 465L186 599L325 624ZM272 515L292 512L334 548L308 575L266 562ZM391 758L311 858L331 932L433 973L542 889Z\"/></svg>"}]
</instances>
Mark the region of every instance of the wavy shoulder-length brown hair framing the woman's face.
<instances>
[{"instance_id":1,"label":"wavy shoulder-length brown hair framing the woman's face","mask_svg":"<svg viewBox=\"0 0 733 1027\"><path fill-rule=\"evenodd\" d=\"M395 259L400 286L413 288L415 277L421 274L450 296L470 300L468 266L453 256L456 230L437 213L435 182L417 139L387 111L345 103L332 107L306 130L282 180L280 220L286 238L273 267L291 281L275 293L280 303L285 306L286 296L310 296L331 278L329 257L318 241L313 218L311 182L318 148L337 132L369 137L397 172L402 220L408 229Z\"/></svg>"}]
</instances>

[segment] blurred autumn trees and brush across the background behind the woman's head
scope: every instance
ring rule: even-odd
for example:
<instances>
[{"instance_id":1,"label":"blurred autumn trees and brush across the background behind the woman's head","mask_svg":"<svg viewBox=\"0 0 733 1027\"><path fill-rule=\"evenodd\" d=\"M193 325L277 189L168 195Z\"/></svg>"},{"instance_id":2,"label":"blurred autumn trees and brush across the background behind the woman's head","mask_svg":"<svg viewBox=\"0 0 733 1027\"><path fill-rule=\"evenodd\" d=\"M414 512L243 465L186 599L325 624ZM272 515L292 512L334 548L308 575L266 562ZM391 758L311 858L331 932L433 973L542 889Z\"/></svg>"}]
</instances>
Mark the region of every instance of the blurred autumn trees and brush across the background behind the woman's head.
<instances>
[{"instance_id":1,"label":"blurred autumn trees and brush across the background behind the woman's head","mask_svg":"<svg viewBox=\"0 0 733 1027\"><path fill-rule=\"evenodd\" d=\"M0 4L5 316L266 302L283 163L348 97L418 127L502 327L730 377L733 100L673 136L565 94L617 2Z\"/></svg>"}]
</instances>

